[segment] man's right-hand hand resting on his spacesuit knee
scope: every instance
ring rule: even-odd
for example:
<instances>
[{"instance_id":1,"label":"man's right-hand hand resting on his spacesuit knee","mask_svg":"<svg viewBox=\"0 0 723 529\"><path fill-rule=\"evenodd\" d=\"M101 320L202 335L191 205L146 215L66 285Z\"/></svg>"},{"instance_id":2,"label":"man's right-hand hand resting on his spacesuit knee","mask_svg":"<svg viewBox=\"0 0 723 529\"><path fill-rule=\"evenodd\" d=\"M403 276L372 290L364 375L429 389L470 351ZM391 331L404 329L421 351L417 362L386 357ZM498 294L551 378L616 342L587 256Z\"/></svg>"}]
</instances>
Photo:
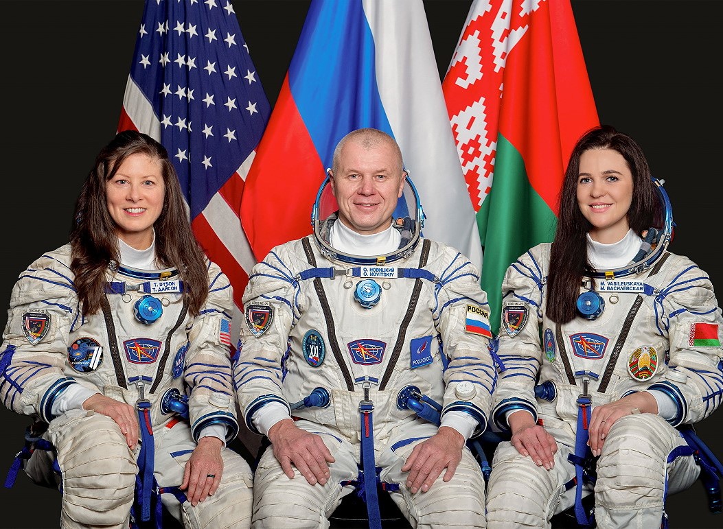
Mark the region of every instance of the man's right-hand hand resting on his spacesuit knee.
<instances>
[{"instance_id":1,"label":"man's right-hand hand resting on his spacesuit knee","mask_svg":"<svg viewBox=\"0 0 723 529\"><path fill-rule=\"evenodd\" d=\"M449 426L440 426L437 434L414 447L402 472L409 471L406 486L412 494L427 492L445 468L444 481L450 481L462 459L464 437Z\"/></svg>"}]
</instances>

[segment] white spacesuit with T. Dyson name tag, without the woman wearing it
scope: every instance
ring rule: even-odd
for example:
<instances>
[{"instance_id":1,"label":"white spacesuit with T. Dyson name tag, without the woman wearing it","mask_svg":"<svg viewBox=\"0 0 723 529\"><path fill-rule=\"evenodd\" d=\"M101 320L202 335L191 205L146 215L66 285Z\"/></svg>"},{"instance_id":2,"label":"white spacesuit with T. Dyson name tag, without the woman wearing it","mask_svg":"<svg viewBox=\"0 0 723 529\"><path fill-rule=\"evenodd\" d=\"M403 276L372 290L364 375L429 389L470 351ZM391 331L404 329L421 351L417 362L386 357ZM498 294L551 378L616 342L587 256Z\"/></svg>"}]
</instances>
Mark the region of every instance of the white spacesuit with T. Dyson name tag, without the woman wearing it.
<instances>
[{"instance_id":1,"label":"white spacesuit with T. Dyson name tag, without the woman wearing it","mask_svg":"<svg viewBox=\"0 0 723 529\"><path fill-rule=\"evenodd\" d=\"M221 485L205 502L192 507L178 489L200 436L215 429L230 440L238 431L226 276L209 263L208 300L192 317L176 270L114 265L103 311L83 317L70 251L67 244L44 254L12 291L0 395L8 408L49 423L43 439L52 444L33 452L26 473L61 486L63 528L127 528L149 510L158 516L156 484L163 505L187 528L248 527L252 474L236 452L221 450ZM78 408L55 416L67 390L140 408L146 433L137 449L108 416Z\"/></svg>"}]
</instances>

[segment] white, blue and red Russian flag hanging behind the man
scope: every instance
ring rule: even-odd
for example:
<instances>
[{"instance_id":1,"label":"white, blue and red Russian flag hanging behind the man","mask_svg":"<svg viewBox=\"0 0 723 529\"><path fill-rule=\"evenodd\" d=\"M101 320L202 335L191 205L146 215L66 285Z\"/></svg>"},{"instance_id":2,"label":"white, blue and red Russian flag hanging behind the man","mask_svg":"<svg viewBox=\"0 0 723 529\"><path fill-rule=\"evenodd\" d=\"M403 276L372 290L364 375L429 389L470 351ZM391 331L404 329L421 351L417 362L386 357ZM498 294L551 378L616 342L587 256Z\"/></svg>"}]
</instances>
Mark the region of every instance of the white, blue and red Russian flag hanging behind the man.
<instances>
[{"instance_id":1,"label":"white, blue and red Russian flag hanging behind the man","mask_svg":"<svg viewBox=\"0 0 723 529\"><path fill-rule=\"evenodd\" d=\"M312 233L335 145L367 126L399 143L427 215L423 235L481 267L422 0L312 0L241 200L254 256Z\"/></svg>"}]
</instances>

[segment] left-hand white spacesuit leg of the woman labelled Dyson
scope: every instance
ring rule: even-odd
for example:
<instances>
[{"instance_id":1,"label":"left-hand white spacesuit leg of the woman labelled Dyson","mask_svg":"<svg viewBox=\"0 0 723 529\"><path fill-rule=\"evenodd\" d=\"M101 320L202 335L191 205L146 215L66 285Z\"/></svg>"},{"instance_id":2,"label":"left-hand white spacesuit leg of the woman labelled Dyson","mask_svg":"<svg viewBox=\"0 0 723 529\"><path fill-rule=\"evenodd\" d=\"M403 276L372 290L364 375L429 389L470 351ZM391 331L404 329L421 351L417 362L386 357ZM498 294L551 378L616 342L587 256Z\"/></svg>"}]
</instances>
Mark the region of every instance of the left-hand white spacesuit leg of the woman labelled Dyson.
<instances>
[{"instance_id":1,"label":"left-hand white spacesuit leg of the woman labelled Dyson","mask_svg":"<svg viewBox=\"0 0 723 529\"><path fill-rule=\"evenodd\" d=\"M138 468L118 425L72 410L50 423L48 436L62 475L61 520L109 526L127 520Z\"/></svg>"}]
</instances>

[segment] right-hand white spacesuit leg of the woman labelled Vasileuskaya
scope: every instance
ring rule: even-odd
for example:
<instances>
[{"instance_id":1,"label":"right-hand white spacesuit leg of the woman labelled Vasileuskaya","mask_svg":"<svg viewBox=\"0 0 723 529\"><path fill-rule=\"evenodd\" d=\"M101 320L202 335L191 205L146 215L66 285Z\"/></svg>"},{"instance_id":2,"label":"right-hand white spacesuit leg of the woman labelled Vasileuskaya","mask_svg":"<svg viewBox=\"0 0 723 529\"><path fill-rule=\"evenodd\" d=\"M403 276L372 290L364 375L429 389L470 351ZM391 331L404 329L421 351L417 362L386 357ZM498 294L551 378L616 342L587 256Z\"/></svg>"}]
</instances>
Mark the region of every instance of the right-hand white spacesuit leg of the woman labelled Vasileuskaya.
<instances>
[{"instance_id":1,"label":"right-hand white spacesuit leg of the woman labelled Vasileuskaya","mask_svg":"<svg viewBox=\"0 0 723 529\"><path fill-rule=\"evenodd\" d=\"M595 520L599 528L659 527L668 493L687 489L700 468L692 455L667 463L685 439L664 419L639 413L612 425L597 463Z\"/></svg>"}]
</instances>

